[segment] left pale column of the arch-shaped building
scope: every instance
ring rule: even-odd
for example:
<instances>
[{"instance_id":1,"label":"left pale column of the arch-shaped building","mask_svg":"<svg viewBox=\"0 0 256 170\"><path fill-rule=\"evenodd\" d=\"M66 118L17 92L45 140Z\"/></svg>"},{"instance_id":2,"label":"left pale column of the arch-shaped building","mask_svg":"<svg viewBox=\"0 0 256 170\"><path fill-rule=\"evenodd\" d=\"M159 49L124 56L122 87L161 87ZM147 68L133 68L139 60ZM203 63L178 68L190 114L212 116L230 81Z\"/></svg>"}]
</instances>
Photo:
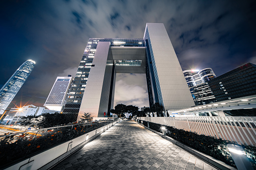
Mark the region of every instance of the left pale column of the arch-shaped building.
<instances>
[{"instance_id":1,"label":"left pale column of the arch-shaped building","mask_svg":"<svg viewBox=\"0 0 256 170\"><path fill-rule=\"evenodd\" d=\"M104 117L108 111L113 68L113 58L109 55L110 42L99 42L94 56L89 81L81 102L79 117L90 113L93 117Z\"/></svg>"}]
</instances>

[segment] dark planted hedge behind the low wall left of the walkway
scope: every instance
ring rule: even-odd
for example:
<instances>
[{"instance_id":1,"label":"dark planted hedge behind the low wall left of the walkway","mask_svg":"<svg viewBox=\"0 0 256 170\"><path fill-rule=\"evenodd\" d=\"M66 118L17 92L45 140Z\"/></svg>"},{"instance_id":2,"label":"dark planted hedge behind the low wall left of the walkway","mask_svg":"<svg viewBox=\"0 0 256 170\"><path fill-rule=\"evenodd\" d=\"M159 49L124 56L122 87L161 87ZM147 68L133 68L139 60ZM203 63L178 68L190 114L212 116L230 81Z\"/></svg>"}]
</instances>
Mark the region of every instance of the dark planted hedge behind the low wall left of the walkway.
<instances>
[{"instance_id":1,"label":"dark planted hedge behind the low wall left of the walkway","mask_svg":"<svg viewBox=\"0 0 256 170\"><path fill-rule=\"evenodd\" d=\"M112 122L64 125L5 135L0 140L0 169Z\"/></svg>"}]
</instances>

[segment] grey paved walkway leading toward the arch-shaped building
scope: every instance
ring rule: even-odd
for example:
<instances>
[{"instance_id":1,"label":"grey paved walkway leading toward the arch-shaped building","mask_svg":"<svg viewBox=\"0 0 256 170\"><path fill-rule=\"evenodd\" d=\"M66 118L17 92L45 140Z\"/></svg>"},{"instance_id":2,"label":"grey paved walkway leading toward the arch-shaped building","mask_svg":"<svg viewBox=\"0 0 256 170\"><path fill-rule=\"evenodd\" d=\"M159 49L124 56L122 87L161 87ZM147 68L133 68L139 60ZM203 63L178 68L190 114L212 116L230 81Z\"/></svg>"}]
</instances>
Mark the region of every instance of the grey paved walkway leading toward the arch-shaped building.
<instances>
[{"instance_id":1,"label":"grey paved walkway leading toward the arch-shaped building","mask_svg":"<svg viewBox=\"0 0 256 170\"><path fill-rule=\"evenodd\" d=\"M131 120L123 120L53 169L215 169Z\"/></svg>"}]
</instances>

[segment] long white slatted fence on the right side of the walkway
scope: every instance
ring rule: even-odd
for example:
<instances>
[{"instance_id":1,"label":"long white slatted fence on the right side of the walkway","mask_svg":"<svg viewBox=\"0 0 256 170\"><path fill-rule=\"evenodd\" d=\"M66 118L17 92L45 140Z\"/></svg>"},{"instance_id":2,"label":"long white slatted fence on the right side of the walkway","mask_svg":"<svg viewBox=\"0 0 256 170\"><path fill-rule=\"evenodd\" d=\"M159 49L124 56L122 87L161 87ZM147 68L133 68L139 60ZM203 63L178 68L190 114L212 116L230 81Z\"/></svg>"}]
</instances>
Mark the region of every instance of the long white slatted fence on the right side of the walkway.
<instances>
[{"instance_id":1,"label":"long white slatted fence on the right side of the walkway","mask_svg":"<svg viewBox=\"0 0 256 170\"><path fill-rule=\"evenodd\" d=\"M240 144L256 145L256 117L195 116L137 117L137 119L215 136Z\"/></svg>"}]
</instances>

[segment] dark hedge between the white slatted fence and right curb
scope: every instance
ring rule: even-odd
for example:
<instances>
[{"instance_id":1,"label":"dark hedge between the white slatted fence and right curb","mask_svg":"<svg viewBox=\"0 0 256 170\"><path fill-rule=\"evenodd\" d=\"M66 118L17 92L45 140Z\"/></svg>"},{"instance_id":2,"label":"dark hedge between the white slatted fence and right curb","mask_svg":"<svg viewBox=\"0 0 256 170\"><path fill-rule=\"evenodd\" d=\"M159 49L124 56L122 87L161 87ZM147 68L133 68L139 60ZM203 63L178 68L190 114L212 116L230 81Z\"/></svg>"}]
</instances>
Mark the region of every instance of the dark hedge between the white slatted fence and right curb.
<instances>
[{"instance_id":1,"label":"dark hedge between the white slatted fence and right curb","mask_svg":"<svg viewBox=\"0 0 256 170\"><path fill-rule=\"evenodd\" d=\"M141 123L141 120L139 120ZM143 125L147 126L147 121L143 121ZM161 124L149 122L149 127L158 132L161 131ZM228 151L227 144L236 144L231 141L218 139L212 136L206 136L203 134L197 134L195 132L186 131L183 129L177 129L172 126L165 126L166 135L179 140L203 153L206 153L216 159L219 159L231 166L235 166L235 163ZM244 151L249 158L252 166L256 169L256 147L251 145L242 145Z\"/></svg>"}]
</instances>

